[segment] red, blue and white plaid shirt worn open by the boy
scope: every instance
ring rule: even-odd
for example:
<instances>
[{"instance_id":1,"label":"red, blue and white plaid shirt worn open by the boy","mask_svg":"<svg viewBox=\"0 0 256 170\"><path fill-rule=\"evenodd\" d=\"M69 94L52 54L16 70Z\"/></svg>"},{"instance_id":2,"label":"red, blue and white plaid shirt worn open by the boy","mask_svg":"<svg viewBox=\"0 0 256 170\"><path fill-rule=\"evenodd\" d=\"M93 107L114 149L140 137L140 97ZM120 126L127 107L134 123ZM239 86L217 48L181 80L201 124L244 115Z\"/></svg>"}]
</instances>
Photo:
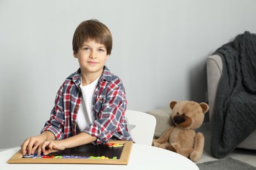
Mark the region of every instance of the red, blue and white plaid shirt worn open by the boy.
<instances>
[{"instance_id":1,"label":"red, blue and white plaid shirt worn open by the boy","mask_svg":"<svg viewBox=\"0 0 256 170\"><path fill-rule=\"evenodd\" d=\"M41 131L51 131L57 140L77 134L77 112L81 104L81 70L66 78L55 99L51 118ZM127 105L125 89L121 80L104 67L93 94L92 112L95 122L84 129L85 133L97 137L96 144L108 140L130 141L124 114Z\"/></svg>"}]
</instances>

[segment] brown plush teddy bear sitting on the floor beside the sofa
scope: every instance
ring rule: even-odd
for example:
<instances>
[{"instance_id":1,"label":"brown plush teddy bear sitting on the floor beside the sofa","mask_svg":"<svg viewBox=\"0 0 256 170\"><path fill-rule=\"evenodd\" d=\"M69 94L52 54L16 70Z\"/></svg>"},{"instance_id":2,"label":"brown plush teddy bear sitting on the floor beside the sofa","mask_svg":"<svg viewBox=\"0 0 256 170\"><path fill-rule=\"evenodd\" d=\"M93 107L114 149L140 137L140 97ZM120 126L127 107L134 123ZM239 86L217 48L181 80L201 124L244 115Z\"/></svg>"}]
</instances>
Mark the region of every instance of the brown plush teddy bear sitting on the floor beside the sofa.
<instances>
[{"instance_id":1,"label":"brown plush teddy bear sitting on the floor beside the sofa","mask_svg":"<svg viewBox=\"0 0 256 170\"><path fill-rule=\"evenodd\" d=\"M204 114L209 110L207 103L195 101L171 101L171 120L174 125L168 127L152 145L169 149L196 162L203 154L203 133L196 133L203 124Z\"/></svg>"}]
</instances>

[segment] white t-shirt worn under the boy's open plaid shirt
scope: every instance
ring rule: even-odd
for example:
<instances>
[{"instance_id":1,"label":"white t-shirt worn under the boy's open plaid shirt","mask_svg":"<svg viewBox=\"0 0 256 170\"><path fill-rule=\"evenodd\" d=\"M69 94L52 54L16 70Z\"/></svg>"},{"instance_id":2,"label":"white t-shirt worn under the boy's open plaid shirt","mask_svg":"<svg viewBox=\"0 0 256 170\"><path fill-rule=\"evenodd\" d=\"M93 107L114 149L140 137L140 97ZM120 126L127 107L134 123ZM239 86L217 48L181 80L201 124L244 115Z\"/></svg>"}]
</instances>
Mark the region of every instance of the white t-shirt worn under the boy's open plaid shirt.
<instances>
[{"instance_id":1,"label":"white t-shirt worn under the boy's open plaid shirt","mask_svg":"<svg viewBox=\"0 0 256 170\"><path fill-rule=\"evenodd\" d=\"M86 86L82 86L82 78L81 78L81 92L82 92L82 101L77 112L77 126L79 131L83 131L85 127L90 126L95 121L95 116L91 110L93 93L95 92L96 85L98 83L98 78L91 84Z\"/></svg>"}]
</instances>

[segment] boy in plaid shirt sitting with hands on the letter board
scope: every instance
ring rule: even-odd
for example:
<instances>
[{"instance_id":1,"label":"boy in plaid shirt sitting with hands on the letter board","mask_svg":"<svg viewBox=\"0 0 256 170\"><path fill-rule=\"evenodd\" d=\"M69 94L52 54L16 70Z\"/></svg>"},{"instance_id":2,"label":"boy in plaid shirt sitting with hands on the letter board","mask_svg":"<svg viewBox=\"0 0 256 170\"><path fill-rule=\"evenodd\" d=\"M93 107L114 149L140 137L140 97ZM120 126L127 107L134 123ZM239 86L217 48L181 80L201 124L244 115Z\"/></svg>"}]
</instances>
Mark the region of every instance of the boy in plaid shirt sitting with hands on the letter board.
<instances>
[{"instance_id":1,"label":"boy in plaid shirt sitting with hands on the letter board","mask_svg":"<svg viewBox=\"0 0 256 170\"><path fill-rule=\"evenodd\" d=\"M130 141L124 113L127 105L121 80L105 66L112 35L98 20L86 20L75 29L74 57L79 69L66 78L55 99L51 118L41 135L22 143L22 154L50 154L83 144Z\"/></svg>"}]
</instances>

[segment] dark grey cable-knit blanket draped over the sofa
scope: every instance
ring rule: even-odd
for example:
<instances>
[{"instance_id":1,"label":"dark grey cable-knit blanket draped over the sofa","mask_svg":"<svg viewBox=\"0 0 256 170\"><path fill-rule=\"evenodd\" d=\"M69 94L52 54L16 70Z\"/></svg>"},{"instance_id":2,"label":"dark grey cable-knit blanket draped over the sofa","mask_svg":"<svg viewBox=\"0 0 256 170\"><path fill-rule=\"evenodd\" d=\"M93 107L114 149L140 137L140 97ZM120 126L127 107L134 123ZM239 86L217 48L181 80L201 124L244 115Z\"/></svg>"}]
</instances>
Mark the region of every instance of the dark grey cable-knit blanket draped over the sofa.
<instances>
[{"instance_id":1,"label":"dark grey cable-knit blanket draped over the sofa","mask_svg":"<svg viewBox=\"0 0 256 170\"><path fill-rule=\"evenodd\" d=\"M245 31L214 54L221 56L223 75L213 108L211 154L223 158L256 128L256 34Z\"/></svg>"}]
</instances>

